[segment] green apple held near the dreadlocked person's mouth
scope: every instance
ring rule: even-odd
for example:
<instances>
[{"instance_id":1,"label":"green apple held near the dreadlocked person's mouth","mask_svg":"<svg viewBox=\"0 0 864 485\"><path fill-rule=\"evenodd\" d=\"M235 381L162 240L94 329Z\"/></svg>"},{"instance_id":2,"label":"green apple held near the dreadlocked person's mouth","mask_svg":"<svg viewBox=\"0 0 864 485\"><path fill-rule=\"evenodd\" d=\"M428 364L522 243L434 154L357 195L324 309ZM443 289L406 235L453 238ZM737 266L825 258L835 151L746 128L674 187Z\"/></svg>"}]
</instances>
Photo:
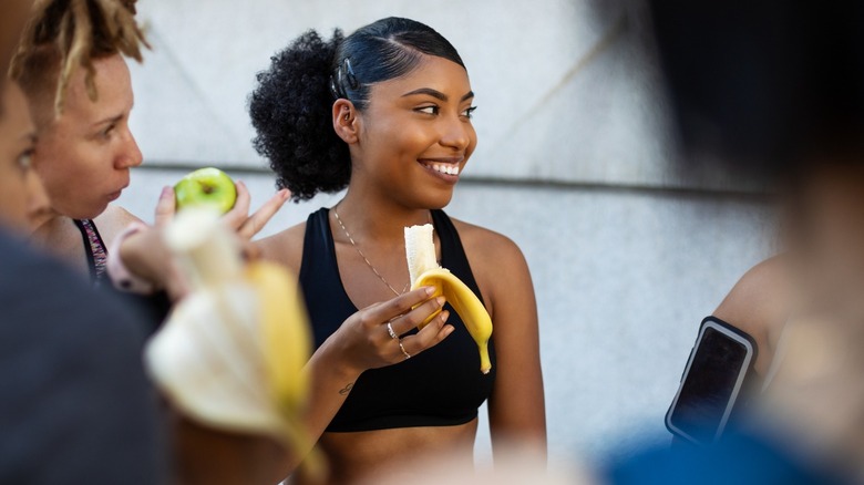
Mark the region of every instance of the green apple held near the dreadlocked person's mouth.
<instances>
[{"instance_id":1,"label":"green apple held near the dreadlocked person's mouth","mask_svg":"<svg viewBox=\"0 0 864 485\"><path fill-rule=\"evenodd\" d=\"M209 206L225 214L237 200L237 188L225 172L214 168L199 168L174 186L177 210L192 206Z\"/></svg>"}]
</instances>

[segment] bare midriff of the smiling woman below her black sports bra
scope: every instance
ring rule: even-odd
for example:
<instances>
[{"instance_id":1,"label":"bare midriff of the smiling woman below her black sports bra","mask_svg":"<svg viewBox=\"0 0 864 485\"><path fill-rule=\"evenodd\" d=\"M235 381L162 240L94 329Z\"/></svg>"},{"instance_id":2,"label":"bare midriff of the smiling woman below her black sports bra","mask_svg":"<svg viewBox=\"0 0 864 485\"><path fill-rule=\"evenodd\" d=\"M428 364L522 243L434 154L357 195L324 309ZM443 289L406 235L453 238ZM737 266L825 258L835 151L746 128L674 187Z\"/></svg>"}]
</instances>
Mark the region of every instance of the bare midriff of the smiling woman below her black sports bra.
<instances>
[{"instance_id":1,"label":"bare midriff of the smiling woman below her black sports bra","mask_svg":"<svg viewBox=\"0 0 864 485\"><path fill-rule=\"evenodd\" d=\"M430 460L472 463L476 433L474 419L456 426L325 433L318 445L329 465L328 483L350 484L361 478L374 483L374 476L389 474L393 467L399 468L400 476L409 478L412 464ZM295 477L289 483L309 482Z\"/></svg>"}]
</instances>

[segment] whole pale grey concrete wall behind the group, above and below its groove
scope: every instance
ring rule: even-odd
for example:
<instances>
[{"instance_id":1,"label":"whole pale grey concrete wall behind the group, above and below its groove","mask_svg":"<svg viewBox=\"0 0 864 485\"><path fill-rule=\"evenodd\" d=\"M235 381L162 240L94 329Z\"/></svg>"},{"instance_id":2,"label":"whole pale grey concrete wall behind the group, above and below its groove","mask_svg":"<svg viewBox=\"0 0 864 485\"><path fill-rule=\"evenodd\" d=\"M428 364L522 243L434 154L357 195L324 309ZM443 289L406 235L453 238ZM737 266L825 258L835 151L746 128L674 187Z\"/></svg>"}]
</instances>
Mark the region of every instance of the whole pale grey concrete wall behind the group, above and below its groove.
<instances>
[{"instance_id":1,"label":"whole pale grey concrete wall behind the group, above and below its groove","mask_svg":"<svg viewBox=\"0 0 864 485\"><path fill-rule=\"evenodd\" d=\"M397 14L456 45L477 93L480 146L448 210L510 236L527 257L556 454L661 435L696 326L770 254L768 206L729 192L742 180L676 169L638 2L147 0L140 9L154 44L133 66L145 164L120 203L147 219L160 187L194 166L236 168L256 206L274 192L250 148L246 99L255 73L305 29L350 31ZM336 200L288 205L265 234ZM477 448L487 455L486 432Z\"/></svg>"}]
</instances>

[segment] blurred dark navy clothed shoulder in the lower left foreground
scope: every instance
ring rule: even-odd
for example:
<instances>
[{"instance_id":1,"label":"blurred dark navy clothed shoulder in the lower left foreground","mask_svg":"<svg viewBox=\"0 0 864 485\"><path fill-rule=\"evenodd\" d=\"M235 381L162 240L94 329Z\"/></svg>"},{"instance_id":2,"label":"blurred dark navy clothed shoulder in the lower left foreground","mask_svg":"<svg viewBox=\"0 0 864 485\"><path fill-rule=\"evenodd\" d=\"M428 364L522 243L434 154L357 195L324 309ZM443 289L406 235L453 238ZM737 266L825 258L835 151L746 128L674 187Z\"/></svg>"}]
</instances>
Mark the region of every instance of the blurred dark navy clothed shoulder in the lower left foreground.
<instances>
[{"instance_id":1,"label":"blurred dark navy clothed shoulder in the lower left foreground","mask_svg":"<svg viewBox=\"0 0 864 485\"><path fill-rule=\"evenodd\" d=\"M160 483L136 316L2 230L0 309L0 483Z\"/></svg>"}]
</instances>

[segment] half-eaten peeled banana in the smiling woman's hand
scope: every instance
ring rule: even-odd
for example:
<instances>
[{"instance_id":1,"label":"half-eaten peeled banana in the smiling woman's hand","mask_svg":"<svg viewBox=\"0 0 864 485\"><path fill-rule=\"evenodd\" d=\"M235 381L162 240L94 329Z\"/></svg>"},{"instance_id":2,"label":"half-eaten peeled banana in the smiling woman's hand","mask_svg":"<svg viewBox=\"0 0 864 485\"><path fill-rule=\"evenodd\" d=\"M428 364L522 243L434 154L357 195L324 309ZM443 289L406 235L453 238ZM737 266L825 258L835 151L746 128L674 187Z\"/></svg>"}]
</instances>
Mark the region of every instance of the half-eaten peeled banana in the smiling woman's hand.
<instances>
[{"instance_id":1,"label":"half-eaten peeled banana in the smiling woman's hand","mask_svg":"<svg viewBox=\"0 0 864 485\"><path fill-rule=\"evenodd\" d=\"M488 357L488 339L492 337L492 319L483 302L459 278L442 268L435 258L435 242L431 224L405 227L405 255L411 289L424 286L435 288L434 297L441 295L456 310L465 323L471 338L480 351L480 371L484 374L492 370ZM430 316L421 328L438 313Z\"/></svg>"}]
</instances>

